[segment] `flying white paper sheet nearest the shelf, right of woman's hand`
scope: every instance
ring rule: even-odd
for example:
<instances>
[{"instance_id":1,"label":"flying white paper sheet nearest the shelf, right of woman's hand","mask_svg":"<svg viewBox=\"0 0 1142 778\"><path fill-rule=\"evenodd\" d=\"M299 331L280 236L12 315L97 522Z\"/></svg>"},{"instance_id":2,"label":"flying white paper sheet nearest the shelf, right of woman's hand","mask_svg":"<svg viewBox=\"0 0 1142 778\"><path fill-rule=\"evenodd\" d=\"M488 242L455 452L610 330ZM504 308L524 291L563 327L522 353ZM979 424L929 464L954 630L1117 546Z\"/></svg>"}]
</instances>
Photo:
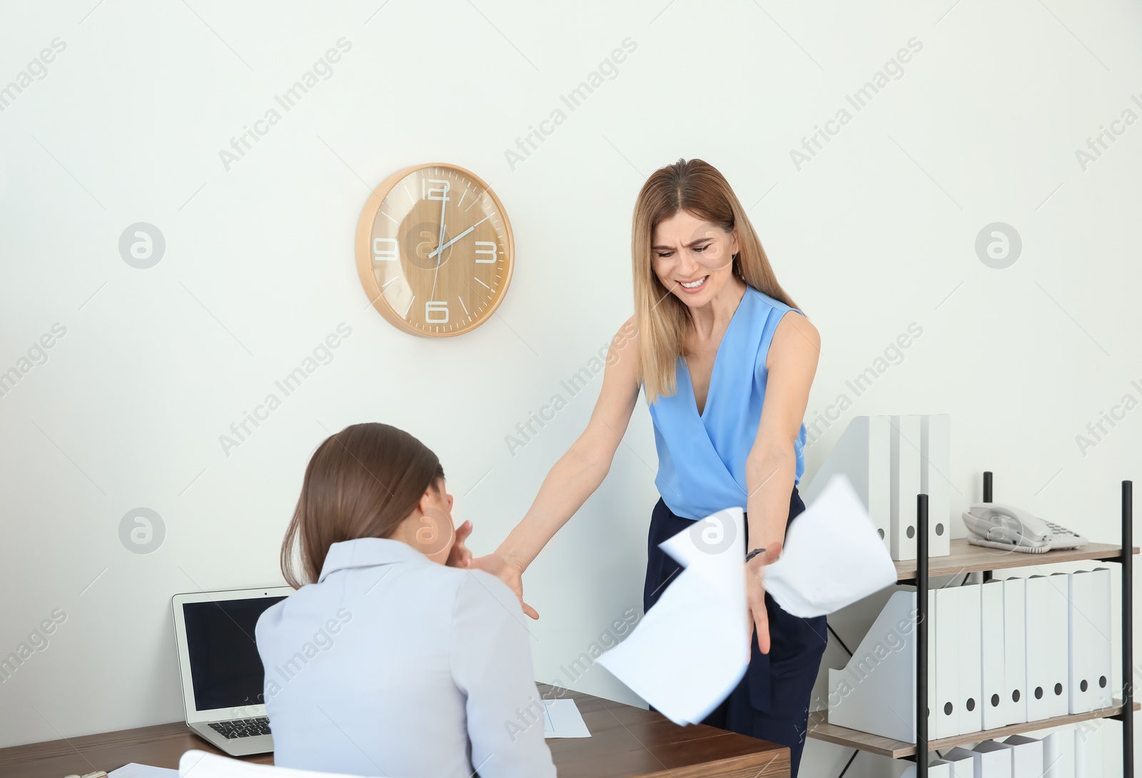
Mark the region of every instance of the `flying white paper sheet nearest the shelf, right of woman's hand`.
<instances>
[{"instance_id":1,"label":"flying white paper sheet nearest the shelf, right of woman's hand","mask_svg":"<svg viewBox=\"0 0 1142 778\"><path fill-rule=\"evenodd\" d=\"M896 567L856 491L836 475L789 526L781 557L764 576L783 610L811 618L896 583Z\"/></svg>"}]
</instances>

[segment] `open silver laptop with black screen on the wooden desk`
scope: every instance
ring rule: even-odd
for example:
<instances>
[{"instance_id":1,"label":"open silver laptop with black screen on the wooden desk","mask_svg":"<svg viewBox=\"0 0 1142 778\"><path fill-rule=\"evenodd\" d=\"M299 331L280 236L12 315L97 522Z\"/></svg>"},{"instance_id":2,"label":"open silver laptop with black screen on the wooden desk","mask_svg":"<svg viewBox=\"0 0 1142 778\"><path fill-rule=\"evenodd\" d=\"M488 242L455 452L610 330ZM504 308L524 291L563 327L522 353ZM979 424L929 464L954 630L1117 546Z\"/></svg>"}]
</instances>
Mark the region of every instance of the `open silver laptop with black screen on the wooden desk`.
<instances>
[{"instance_id":1,"label":"open silver laptop with black screen on the wooden desk","mask_svg":"<svg viewBox=\"0 0 1142 778\"><path fill-rule=\"evenodd\" d=\"M292 592L271 586L171 598L186 726L231 756L274 749L254 627Z\"/></svg>"}]
</instances>

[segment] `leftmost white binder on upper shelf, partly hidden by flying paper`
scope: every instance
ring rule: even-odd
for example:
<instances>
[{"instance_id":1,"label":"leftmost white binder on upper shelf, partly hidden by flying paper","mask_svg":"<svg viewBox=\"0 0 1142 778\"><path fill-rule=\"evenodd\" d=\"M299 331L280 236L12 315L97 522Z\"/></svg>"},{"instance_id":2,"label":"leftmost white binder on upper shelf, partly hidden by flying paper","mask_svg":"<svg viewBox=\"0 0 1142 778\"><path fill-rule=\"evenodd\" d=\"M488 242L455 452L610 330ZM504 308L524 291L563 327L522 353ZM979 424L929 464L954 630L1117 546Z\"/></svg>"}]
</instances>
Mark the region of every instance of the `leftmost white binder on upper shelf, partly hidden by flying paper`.
<instances>
[{"instance_id":1,"label":"leftmost white binder on upper shelf, partly hidden by flying paper","mask_svg":"<svg viewBox=\"0 0 1142 778\"><path fill-rule=\"evenodd\" d=\"M802 491L805 503L812 503L837 473L849 478L864 503L884 546L890 549L888 532L892 501L888 495L891 451L888 416L856 416L841 433L813 480ZM915 502L916 495L912 495ZM915 510L915 509L914 509ZM944 553L948 553L947 551Z\"/></svg>"}]
</instances>

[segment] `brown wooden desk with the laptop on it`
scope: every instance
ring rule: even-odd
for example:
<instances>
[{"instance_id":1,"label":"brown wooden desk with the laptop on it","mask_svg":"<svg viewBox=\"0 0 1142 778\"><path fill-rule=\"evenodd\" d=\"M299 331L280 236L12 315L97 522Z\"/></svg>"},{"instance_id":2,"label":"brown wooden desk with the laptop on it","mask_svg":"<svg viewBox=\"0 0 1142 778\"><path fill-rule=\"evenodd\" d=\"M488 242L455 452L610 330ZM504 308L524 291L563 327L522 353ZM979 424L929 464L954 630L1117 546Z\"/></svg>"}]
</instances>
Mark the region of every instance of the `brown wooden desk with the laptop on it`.
<instances>
[{"instance_id":1,"label":"brown wooden desk with the laptop on it","mask_svg":"<svg viewBox=\"0 0 1142 778\"><path fill-rule=\"evenodd\" d=\"M539 686L544 696L553 689ZM550 738L560 778L788 778L789 749L714 727L678 727L661 714L571 691L589 738ZM183 722L0 749L5 778L63 778L128 762L177 768L183 752L219 753ZM247 757L272 764L273 756Z\"/></svg>"}]
</instances>

